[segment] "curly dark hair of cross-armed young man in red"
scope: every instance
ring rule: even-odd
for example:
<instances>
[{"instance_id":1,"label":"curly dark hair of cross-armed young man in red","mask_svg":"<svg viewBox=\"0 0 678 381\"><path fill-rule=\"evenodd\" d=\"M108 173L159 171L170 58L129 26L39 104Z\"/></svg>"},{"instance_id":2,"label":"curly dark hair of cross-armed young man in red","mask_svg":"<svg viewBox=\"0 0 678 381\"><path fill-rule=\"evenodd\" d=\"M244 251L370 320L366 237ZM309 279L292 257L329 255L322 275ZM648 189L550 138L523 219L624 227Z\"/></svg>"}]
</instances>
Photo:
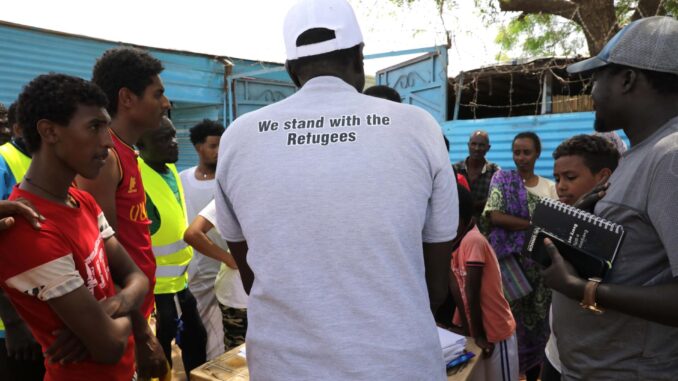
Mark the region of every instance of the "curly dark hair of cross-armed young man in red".
<instances>
[{"instance_id":1,"label":"curly dark hair of cross-armed young man in red","mask_svg":"<svg viewBox=\"0 0 678 381\"><path fill-rule=\"evenodd\" d=\"M106 94L92 82L65 74L35 77L19 95L17 120L30 152L40 149L38 121L51 120L67 125L78 105L106 107Z\"/></svg>"}]
</instances>

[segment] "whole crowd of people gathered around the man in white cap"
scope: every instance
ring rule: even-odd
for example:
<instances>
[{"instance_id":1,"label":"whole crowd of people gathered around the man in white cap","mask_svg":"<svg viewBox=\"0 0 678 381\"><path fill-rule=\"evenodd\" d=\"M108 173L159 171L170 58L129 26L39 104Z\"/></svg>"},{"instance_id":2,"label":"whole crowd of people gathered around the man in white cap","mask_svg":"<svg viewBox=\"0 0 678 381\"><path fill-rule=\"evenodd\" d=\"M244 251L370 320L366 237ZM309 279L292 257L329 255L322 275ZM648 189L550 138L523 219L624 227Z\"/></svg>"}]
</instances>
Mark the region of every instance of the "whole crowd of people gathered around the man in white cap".
<instances>
[{"instance_id":1,"label":"whole crowd of people gathered around the man in white cap","mask_svg":"<svg viewBox=\"0 0 678 381\"><path fill-rule=\"evenodd\" d=\"M283 37L299 91L197 123L182 172L142 50L0 107L0 379L169 377L173 342L189 374L246 341L253 380L443 380L436 326L475 341L477 380L678 377L678 21L635 21L568 68L593 75L597 132L556 148L555 182L539 131L515 135L514 169L486 159L491 131L451 165L426 111L363 93L345 0L300 1ZM326 144L290 144L292 120ZM548 240L549 267L524 254L544 198L624 227L603 279Z\"/></svg>"}]
</instances>

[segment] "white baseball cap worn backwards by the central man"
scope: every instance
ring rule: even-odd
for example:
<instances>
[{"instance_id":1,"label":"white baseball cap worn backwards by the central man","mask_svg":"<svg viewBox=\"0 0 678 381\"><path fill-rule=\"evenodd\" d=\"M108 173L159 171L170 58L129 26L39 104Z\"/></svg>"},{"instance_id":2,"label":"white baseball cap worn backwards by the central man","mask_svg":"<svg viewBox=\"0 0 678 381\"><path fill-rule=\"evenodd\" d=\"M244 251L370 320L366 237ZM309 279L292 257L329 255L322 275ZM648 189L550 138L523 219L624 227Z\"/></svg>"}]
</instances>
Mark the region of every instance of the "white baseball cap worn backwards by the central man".
<instances>
[{"instance_id":1,"label":"white baseball cap worn backwards by the central man","mask_svg":"<svg viewBox=\"0 0 678 381\"><path fill-rule=\"evenodd\" d=\"M333 31L334 38L297 45L297 39L302 33L316 28ZM348 49L363 42L358 20L346 0L299 1L285 16L283 35L288 60Z\"/></svg>"}]
</instances>

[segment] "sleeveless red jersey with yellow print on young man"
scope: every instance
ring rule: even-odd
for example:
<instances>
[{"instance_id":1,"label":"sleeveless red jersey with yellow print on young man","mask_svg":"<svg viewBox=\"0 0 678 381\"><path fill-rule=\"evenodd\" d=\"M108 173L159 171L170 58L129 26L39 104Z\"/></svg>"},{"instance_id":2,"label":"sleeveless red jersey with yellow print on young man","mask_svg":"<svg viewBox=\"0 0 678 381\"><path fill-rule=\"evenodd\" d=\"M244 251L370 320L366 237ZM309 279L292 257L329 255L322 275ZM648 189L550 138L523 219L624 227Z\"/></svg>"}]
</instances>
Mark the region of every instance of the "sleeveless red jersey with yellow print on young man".
<instances>
[{"instance_id":1,"label":"sleeveless red jersey with yellow print on young man","mask_svg":"<svg viewBox=\"0 0 678 381\"><path fill-rule=\"evenodd\" d=\"M148 277L148 294L141 305L141 312L148 318L153 311L156 266L149 231L151 220L146 213L146 192L141 182L137 152L112 130L111 137L122 173L122 180L115 191L115 215L118 222L116 238Z\"/></svg>"}]
</instances>

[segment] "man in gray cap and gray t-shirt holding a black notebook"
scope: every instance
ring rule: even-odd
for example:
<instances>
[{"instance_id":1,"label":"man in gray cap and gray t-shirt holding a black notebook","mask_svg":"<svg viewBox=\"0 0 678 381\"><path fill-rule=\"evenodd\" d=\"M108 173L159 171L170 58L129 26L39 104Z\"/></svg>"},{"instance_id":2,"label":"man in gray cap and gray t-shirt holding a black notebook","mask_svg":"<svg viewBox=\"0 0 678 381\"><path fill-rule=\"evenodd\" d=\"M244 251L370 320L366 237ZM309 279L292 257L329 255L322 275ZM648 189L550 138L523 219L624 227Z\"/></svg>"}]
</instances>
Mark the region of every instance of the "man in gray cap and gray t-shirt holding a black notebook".
<instances>
[{"instance_id":1,"label":"man in gray cap and gray t-shirt holding a black notebook","mask_svg":"<svg viewBox=\"0 0 678 381\"><path fill-rule=\"evenodd\" d=\"M631 149L595 213L626 237L604 279L579 278L552 245L553 331L564 380L678 379L678 21L629 24L597 57L595 128L623 129Z\"/></svg>"}]
</instances>

